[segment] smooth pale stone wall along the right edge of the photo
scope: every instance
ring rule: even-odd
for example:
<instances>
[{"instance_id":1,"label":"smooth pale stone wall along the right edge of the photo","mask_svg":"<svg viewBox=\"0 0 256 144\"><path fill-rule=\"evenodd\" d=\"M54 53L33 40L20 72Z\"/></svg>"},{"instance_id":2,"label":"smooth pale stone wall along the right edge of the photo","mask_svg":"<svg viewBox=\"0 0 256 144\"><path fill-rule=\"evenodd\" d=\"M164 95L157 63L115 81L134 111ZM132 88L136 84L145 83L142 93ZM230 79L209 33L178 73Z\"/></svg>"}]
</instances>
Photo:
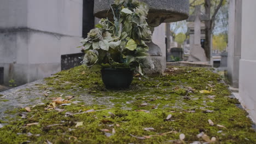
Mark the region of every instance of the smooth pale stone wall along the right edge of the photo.
<instances>
[{"instance_id":1,"label":"smooth pale stone wall along the right edge of the photo","mask_svg":"<svg viewBox=\"0 0 256 144\"><path fill-rule=\"evenodd\" d=\"M242 49L239 74L239 95L254 122L256 122L255 5L255 0L242 1Z\"/></svg>"}]
</instances>

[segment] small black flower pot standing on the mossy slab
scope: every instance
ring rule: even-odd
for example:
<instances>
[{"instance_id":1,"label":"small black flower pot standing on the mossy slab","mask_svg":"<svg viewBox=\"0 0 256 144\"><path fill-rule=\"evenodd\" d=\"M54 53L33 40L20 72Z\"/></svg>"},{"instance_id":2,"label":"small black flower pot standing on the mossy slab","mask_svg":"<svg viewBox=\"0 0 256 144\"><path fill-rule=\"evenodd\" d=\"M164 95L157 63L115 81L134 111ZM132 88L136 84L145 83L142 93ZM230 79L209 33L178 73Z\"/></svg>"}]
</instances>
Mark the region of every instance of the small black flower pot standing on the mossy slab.
<instances>
[{"instance_id":1,"label":"small black flower pot standing on the mossy slab","mask_svg":"<svg viewBox=\"0 0 256 144\"><path fill-rule=\"evenodd\" d=\"M104 68L101 70L101 78L107 89L129 88L133 79L133 71Z\"/></svg>"}]
</instances>

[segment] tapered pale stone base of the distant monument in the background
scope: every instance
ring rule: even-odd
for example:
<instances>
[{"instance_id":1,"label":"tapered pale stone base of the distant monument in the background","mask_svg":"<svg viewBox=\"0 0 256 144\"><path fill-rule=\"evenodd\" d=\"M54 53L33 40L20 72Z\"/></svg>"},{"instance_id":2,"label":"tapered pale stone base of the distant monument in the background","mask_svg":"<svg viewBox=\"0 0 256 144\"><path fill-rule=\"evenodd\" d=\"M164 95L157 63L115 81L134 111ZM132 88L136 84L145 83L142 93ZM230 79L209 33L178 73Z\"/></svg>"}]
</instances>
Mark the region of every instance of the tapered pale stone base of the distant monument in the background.
<instances>
[{"instance_id":1,"label":"tapered pale stone base of the distant monument in the background","mask_svg":"<svg viewBox=\"0 0 256 144\"><path fill-rule=\"evenodd\" d=\"M203 50L200 44L194 44L191 47L189 62L207 62L205 50Z\"/></svg>"}]
</instances>

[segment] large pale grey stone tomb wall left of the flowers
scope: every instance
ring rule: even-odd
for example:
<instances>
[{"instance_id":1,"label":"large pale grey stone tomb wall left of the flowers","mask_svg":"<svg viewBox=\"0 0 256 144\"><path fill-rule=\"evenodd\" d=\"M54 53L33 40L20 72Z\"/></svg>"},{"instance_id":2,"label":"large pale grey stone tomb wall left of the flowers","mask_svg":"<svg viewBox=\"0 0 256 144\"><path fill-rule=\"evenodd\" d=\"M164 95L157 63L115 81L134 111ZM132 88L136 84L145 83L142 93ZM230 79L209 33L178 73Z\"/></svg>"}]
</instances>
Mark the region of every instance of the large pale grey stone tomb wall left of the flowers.
<instances>
[{"instance_id":1,"label":"large pale grey stone tomb wall left of the flowers","mask_svg":"<svg viewBox=\"0 0 256 144\"><path fill-rule=\"evenodd\" d=\"M61 55L78 53L82 0L0 1L0 67L17 85L61 70Z\"/></svg>"}]
</instances>

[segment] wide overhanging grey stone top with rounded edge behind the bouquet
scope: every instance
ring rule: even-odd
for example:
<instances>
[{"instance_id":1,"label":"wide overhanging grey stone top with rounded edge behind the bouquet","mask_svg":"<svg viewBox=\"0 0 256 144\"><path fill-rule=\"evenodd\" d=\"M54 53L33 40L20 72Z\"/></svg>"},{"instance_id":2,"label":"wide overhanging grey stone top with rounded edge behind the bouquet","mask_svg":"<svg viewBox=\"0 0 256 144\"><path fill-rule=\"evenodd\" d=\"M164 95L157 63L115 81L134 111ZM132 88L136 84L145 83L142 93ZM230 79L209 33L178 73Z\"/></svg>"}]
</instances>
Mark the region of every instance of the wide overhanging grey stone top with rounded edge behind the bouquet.
<instances>
[{"instance_id":1,"label":"wide overhanging grey stone top with rounded edge behind the bouquet","mask_svg":"<svg viewBox=\"0 0 256 144\"><path fill-rule=\"evenodd\" d=\"M152 27L157 27L164 22L175 22L188 19L188 0L140 0L149 5L148 23ZM113 3L113 1L111 1ZM109 10L108 1L95 0L94 14L99 18L106 18Z\"/></svg>"}]
</instances>

